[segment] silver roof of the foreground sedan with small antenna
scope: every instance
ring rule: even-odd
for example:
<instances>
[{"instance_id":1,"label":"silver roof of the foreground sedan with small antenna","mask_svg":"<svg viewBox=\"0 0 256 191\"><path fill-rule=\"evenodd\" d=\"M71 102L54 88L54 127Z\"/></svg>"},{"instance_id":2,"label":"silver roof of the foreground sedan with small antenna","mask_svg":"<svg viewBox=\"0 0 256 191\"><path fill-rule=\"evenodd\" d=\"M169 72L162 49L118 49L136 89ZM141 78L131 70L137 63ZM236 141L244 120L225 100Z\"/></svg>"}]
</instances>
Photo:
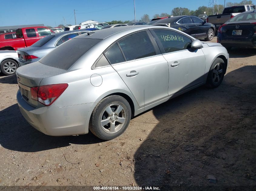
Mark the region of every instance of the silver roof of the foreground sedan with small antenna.
<instances>
[{"instance_id":1,"label":"silver roof of the foreground sedan with small antenna","mask_svg":"<svg viewBox=\"0 0 256 191\"><path fill-rule=\"evenodd\" d=\"M94 30L91 33L81 34L75 38L105 39L111 35L114 35L116 33L120 33L123 31L126 31L126 32L122 33L122 35L126 35L132 32L136 32L138 30L145 30L150 28L170 29L170 27L154 26L154 25L130 25L130 26L122 26L122 27L111 27L111 28L106 28L104 30Z\"/></svg>"}]
</instances>

